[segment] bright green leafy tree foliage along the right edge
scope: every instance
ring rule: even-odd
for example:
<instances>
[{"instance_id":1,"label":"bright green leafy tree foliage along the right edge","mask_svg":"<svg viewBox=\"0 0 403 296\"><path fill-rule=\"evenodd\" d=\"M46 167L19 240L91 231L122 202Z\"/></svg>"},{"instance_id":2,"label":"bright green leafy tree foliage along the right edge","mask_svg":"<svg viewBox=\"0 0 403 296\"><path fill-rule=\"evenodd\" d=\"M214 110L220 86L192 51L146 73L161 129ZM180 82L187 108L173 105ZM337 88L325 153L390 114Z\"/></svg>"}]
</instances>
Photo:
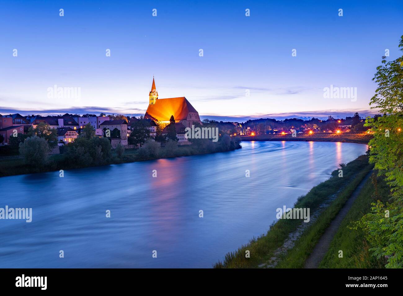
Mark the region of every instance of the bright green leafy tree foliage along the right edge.
<instances>
[{"instance_id":1,"label":"bright green leafy tree foliage along the right edge","mask_svg":"<svg viewBox=\"0 0 403 296\"><path fill-rule=\"evenodd\" d=\"M403 51L403 36L399 43ZM378 66L374 81L378 83L372 97L371 109L377 108L383 116L367 118L374 138L369 142L370 162L391 187L391 203L377 201L371 212L357 222L366 233L378 258L388 256L386 267L403 267L403 56ZM385 210L389 217L385 217Z\"/></svg>"}]
</instances>

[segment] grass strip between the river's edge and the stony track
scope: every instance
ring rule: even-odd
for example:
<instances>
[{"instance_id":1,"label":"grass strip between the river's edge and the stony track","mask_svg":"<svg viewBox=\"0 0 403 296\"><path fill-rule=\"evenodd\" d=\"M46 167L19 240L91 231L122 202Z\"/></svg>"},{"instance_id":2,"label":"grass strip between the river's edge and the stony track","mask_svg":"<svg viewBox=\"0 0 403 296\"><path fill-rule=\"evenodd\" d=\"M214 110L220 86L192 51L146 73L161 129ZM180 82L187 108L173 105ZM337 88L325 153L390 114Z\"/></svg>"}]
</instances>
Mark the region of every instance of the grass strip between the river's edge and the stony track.
<instances>
[{"instance_id":1,"label":"grass strip between the river's edge and the stony track","mask_svg":"<svg viewBox=\"0 0 403 296\"><path fill-rule=\"evenodd\" d=\"M343 178L338 177L338 170L332 172L332 177L314 188L305 196L299 197L295 207L309 207L310 211L316 209L329 196L337 193L339 188L347 186L356 180L360 174L364 175L372 168L368 164L368 157L361 155L351 161L343 168ZM354 183L355 184L355 183ZM356 186L356 185L353 185ZM354 187L355 188L355 187ZM280 219L272 224L267 234L253 238L248 244L245 244L233 252L227 253L224 261L218 261L215 268L252 268L260 263L267 261L274 251L283 245L284 240L290 232L296 230L301 223L297 219ZM245 258L245 251L250 251L250 258Z\"/></svg>"}]
</instances>

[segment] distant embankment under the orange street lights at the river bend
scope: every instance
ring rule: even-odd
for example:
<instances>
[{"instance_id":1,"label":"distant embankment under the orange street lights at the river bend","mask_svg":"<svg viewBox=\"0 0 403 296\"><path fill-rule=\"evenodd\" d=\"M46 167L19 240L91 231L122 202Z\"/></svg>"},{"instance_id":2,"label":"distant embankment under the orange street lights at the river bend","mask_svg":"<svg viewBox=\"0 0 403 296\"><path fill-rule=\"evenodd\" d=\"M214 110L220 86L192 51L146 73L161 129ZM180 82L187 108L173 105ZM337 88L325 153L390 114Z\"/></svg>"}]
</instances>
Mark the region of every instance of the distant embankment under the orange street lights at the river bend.
<instances>
[{"instance_id":1,"label":"distant embankment under the orange street lights at the river bend","mask_svg":"<svg viewBox=\"0 0 403 296\"><path fill-rule=\"evenodd\" d=\"M368 144L373 136L367 133L345 132L343 134L317 133L292 135L257 135L257 136L239 136L240 141L315 141L315 142L343 142Z\"/></svg>"}]
</instances>

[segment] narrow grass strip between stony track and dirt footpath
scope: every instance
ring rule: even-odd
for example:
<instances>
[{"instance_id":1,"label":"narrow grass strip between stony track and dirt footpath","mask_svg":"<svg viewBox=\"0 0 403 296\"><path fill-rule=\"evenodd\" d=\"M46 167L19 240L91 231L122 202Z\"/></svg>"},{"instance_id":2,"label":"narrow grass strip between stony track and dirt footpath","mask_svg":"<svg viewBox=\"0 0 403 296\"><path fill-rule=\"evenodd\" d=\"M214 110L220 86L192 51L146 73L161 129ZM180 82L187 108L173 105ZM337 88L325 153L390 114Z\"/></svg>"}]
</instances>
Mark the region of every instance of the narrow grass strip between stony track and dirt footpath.
<instances>
[{"instance_id":1,"label":"narrow grass strip between stony track and dirt footpath","mask_svg":"<svg viewBox=\"0 0 403 296\"><path fill-rule=\"evenodd\" d=\"M278 263L278 268L303 268L305 260L309 257L319 238L322 236L330 222L347 199L351 196L355 188L370 172L372 165L366 166L357 176L343 189L337 198L319 215L318 219L302 234L295 246L289 250L287 255Z\"/></svg>"}]
</instances>

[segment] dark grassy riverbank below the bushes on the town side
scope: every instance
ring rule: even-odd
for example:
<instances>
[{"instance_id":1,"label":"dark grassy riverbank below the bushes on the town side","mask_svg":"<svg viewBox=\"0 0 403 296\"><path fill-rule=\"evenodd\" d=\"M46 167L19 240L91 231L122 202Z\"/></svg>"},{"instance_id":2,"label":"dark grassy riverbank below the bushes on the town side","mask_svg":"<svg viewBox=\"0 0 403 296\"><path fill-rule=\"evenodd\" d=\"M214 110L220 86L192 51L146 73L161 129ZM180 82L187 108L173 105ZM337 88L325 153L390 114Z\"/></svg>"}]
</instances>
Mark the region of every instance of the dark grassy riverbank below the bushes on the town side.
<instances>
[{"instance_id":1,"label":"dark grassy riverbank below the bushes on the town side","mask_svg":"<svg viewBox=\"0 0 403 296\"><path fill-rule=\"evenodd\" d=\"M155 151L155 149L153 149L153 153L147 153L147 151L145 151L145 149L143 148L126 149L125 153L121 157L118 157L116 151L112 150L110 159L99 164L83 164L75 161L74 159L69 159L69 157L67 157L65 154L55 154L50 155L47 163L40 168L27 166L24 163L24 159L19 155L3 156L0 157L0 177L68 170L73 168L87 168L92 166L103 166L110 164L123 164L135 161L153 160L169 157L226 152L240 148L241 145L239 145L237 142L235 142L234 145L229 145L228 147L226 145L220 145L220 142L218 142L218 144L210 145L207 147L197 146L194 144L178 146L176 149L172 149L172 147L160 147L158 148L158 151Z\"/></svg>"}]
</instances>

